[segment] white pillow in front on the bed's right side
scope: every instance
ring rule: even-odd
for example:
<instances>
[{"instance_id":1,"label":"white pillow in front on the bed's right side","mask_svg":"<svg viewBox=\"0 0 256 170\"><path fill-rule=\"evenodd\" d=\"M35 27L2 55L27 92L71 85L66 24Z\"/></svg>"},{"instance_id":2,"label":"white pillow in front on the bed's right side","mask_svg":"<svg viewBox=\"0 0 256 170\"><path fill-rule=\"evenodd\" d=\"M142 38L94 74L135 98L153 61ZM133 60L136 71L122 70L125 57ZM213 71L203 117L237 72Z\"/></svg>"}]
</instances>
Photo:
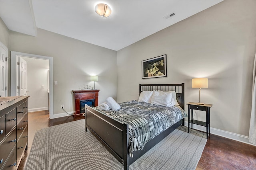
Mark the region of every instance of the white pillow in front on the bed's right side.
<instances>
[{"instance_id":1,"label":"white pillow in front on the bed's right side","mask_svg":"<svg viewBox=\"0 0 256 170\"><path fill-rule=\"evenodd\" d=\"M154 91L151 99L151 104L172 107L175 105L175 102L172 100L172 93L162 93L161 91Z\"/></svg>"}]
</instances>

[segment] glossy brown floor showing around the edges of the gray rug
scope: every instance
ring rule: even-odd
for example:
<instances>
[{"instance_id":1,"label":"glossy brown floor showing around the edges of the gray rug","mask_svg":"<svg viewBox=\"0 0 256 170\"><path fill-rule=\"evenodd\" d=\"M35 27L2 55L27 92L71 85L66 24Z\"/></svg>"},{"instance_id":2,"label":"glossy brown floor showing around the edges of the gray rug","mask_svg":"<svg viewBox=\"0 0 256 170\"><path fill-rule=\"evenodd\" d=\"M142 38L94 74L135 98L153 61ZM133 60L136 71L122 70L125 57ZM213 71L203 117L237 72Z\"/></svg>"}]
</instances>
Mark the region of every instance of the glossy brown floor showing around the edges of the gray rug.
<instances>
[{"instance_id":1,"label":"glossy brown floor showing around the edges of the gray rug","mask_svg":"<svg viewBox=\"0 0 256 170\"><path fill-rule=\"evenodd\" d=\"M37 130L84 119L66 116L49 119L48 111L28 113L28 150L18 170L23 170ZM211 134L196 170L256 170L256 147Z\"/></svg>"}]
</instances>

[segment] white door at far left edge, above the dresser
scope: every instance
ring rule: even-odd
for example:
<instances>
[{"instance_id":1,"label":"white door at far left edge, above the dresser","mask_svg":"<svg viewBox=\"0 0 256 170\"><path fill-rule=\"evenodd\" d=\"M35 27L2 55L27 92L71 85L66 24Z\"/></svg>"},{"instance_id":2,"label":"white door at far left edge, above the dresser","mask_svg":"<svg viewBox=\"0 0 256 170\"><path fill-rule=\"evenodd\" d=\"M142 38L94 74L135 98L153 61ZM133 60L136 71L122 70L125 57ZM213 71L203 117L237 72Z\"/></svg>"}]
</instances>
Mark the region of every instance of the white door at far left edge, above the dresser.
<instances>
[{"instance_id":1,"label":"white door at far left edge, above the dresser","mask_svg":"<svg viewBox=\"0 0 256 170\"><path fill-rule=\"evenodd\" d=\"M7 51L0 45L0 96L7 96L6 68Z\"/></svg>"}]
</instances>

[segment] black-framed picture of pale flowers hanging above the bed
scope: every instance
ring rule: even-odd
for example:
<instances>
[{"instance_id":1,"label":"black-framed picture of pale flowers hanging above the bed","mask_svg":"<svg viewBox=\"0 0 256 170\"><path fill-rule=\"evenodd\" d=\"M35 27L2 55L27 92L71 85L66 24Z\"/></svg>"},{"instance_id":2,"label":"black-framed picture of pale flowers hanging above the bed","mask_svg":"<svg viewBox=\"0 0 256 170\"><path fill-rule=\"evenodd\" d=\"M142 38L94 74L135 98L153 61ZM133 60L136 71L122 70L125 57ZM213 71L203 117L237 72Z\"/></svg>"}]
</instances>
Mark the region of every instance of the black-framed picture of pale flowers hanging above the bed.
<instances>
[{"instance_id":1,"label":"black-framed picture of pale flowers hanging above the bed","mask_svg":"<svg viewBox=\"0 0 256 170\"><path fill-rule=\"evenodd\" d=\"M142 79L167 77L166 55L142 61Z\"/></svg>"}]
</instances>

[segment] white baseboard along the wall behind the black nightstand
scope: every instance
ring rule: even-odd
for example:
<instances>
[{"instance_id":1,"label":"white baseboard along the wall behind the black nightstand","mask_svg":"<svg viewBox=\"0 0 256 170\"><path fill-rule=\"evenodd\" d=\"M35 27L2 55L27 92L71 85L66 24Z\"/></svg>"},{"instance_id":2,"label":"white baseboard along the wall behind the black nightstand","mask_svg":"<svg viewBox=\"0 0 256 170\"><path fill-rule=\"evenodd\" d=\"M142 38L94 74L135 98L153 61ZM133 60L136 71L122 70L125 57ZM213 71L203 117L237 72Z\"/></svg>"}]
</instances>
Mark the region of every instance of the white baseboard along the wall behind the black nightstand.
<instances>
[{"instance_id":1,"label":"white baseboard along the wall behind the black nightstand","mask_svg":"<svg viewBox=\"0 0 256 170\"><path fill-rule=\"evenodd\" d=\"M185 121L185 126L188 127L188 121ZM190 127L191 127L191 124L190 124ZM193 124L193 129L197 129L197 130L206 132L206 127L202 127L200 125ZM238 142L246 143L248 145L256 146L256 145L249 142L249 137L248 136L239 135L239 134L236 134L236 133L223 131L223 130L212 128L212 127L210 127L210 133L214 134L214 135L221 136L221 137L225 137L225 138L228 138L228 139L232 139L232 140L235 140L235 141L238 141Z\"/></svg>"}]
</instances>

